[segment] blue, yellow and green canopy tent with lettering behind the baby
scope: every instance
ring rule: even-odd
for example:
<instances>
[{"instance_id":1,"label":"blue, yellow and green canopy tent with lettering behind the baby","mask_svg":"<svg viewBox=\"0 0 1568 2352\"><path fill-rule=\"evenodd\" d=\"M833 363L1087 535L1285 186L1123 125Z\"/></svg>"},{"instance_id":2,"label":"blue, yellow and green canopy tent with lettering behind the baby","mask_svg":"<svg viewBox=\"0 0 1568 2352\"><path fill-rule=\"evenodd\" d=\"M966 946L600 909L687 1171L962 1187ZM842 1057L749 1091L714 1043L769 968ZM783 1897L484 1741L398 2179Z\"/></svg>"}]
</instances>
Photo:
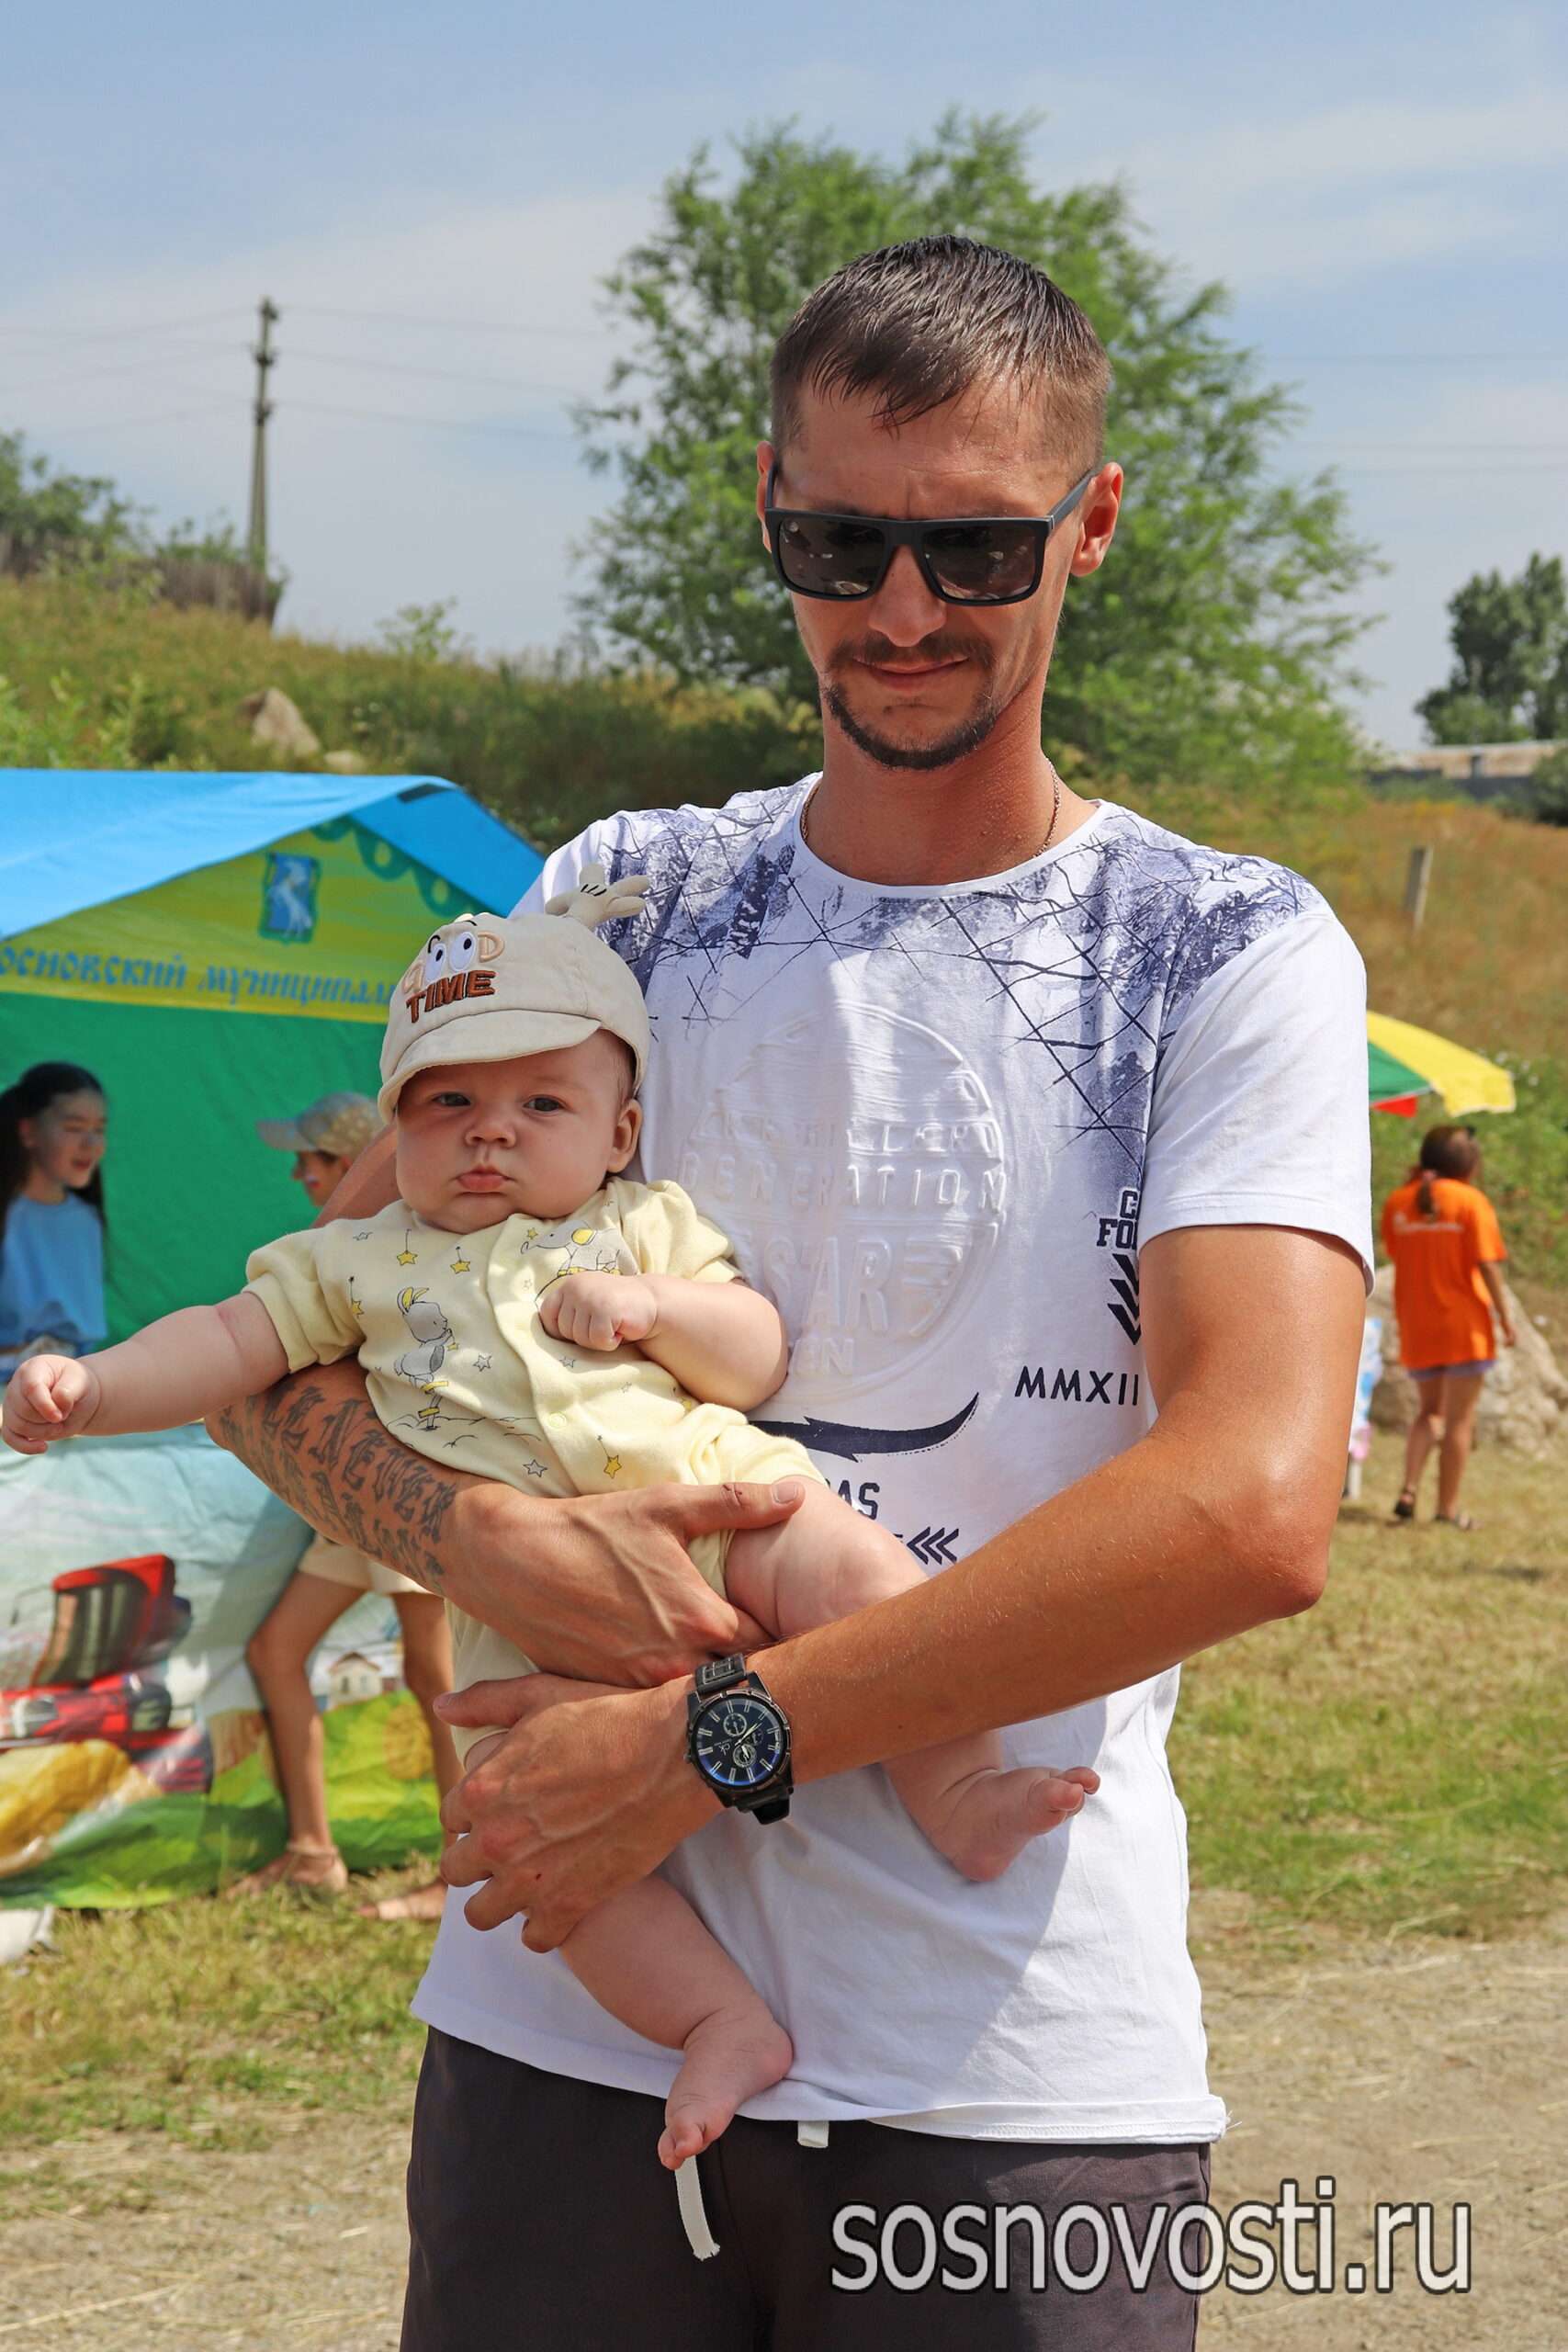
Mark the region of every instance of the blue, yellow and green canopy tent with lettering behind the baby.
<instances>
[{"instance_id":1,"label":"blue, yellow and green canopy tent with lettering behind the baby","mask_svg":"<svg viewBox=\"0 0 1568 2352\"><path fill-rule=\"evenodd\" d=\"M423 936L538 866L430 776L0 771L0 1084L75 1061L108 1094L113 1336L308 1221L256 1120L374 1094Z\"/></svg>"}]
</instances>

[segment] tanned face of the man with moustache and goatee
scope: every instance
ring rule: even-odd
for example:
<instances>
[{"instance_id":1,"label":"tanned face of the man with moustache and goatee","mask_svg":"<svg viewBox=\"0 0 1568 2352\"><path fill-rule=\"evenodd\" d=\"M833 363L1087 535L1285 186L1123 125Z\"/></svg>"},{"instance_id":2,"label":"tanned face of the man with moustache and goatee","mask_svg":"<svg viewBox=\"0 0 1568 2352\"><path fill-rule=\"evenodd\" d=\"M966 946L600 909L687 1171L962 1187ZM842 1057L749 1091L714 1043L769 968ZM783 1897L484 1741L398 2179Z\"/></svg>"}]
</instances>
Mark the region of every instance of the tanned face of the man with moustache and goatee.
<instances>
[{"instance_id":1,"label":"tanned face of the man with moustache and goatee","mask_svg":"<svg viewBox=\"0 0 1568 2352\"><path fill-rule=\"evenodd\" d=\"M875 395L804 393L788 449L759 449L759 513L776 454L778 506L896 520L1044 515L1084 470L1077 452L1053 447L1039 402L1020 402L1001 383L898 430L877 421ZM1093 572L1103 560L1119 489L1119 468L1105 466L1051 534L1044 579L1023 604L945 604L910 548L898 548L870 597L795 597L823 703L851 743L882 767L950 767L1025 691L1044 691L1067 572Z\"/></svg>"}]
</instances>

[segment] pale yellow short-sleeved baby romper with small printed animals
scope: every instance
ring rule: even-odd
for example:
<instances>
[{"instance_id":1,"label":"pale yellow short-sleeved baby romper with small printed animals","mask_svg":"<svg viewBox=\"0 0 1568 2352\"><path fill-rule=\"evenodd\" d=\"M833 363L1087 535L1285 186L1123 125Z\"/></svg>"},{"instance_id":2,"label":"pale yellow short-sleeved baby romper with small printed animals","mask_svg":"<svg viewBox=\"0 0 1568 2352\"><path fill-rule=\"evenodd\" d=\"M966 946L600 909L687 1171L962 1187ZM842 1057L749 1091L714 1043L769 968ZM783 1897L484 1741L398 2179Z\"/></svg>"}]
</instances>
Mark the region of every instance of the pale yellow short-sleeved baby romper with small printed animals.
<instances>
[{"instance_id":1,"label":"pale yellow short-sleeved baby romper with small printed animals","mask_svg":"<svg viewBox=\"0 0 1568 2352\"><path fill-rule=\"evenodd\" d=\"M599 1352L543 1329L538 1298L562 1275L741 1279L729 1240L675 1183L611 1176L555 1223L508 1216L461 1235L393 1202L362 1223L339 1218L268 1242L244 1272L289 1371L357 1355L378 1418L430 1461L550 1496L665 1479L825 1484L804 1446L729 1404L698 1404L639 1348ZM717 1592L726 1550L729 1531L691 1545ZM451 1606L447 1616L458 1689L534 1670L489 1625ZM456 1738L468 1748L482 1733Z\"/></svg>"}]
</instances>

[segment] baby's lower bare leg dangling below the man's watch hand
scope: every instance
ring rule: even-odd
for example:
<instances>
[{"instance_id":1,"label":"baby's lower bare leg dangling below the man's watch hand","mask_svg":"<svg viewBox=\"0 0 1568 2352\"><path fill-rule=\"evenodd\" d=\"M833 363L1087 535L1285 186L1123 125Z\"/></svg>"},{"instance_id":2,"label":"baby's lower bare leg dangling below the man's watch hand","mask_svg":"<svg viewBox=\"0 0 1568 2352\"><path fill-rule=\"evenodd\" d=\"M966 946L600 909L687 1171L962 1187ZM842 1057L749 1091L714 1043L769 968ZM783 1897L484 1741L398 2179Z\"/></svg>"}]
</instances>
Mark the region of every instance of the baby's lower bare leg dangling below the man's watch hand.
<instances>
[{"instance_id":1,"label":"baby's lower bare leg dangling below the man's watch hand","mask_svg":"<svg viewBox=\"0 0 1568 2352\"><path fill-rule=\"evenodd\" d=\"M475 1740L465 1769L482 1764L501 1738L489 1731ZM658 2161L670 2171L710 2147L736 2107L790 2072L788 2032L668 1879L639 1879L599 1903L559 1950L599 2009L646 2042L682 2051L658 2140Z\"/></svg>"}]
</instances>

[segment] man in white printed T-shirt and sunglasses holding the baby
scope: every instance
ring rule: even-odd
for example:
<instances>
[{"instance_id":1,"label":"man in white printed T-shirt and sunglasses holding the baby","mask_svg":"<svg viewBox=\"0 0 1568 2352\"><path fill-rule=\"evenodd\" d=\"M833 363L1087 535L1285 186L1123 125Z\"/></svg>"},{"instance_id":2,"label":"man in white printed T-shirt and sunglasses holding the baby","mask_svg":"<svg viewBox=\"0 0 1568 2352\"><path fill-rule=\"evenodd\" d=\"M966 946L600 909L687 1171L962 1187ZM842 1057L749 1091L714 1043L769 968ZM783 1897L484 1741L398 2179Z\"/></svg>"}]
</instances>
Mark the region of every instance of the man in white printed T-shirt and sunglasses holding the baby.
<instances>
[{"instance_id":1,"label":"man in white printed T-shirt and sunglasses holding the baby","mask_svg":"<svg viewBox=\"0 0 1568 2352\"><path fill-rule=\"evenodd\" d=\"M1084 802L1041 753L1063 595L1121 499L1105 386L1084 315L1006 254L922 240L820 287L778 346L759 515L823 774L592 826L527 901L595 858L651 875L607 934L654 1023L642 1169L783 1310L759 1418L929 1583L757 1646L679 1538L788 1501L440 1479L341 1371L235 1432L329 1534L557 1670L444 1703L515 1729L447 1804L444 1872L480 1891L416 1999L409 2352L1192 2343L1164 2244L1143 2291L1121 2260L1077 2291L1098 2230L1053 2225L1121 2206L1143 2246L1222 2129L1164 1736L1180 1658L1321 1590L1371 1256L1363 997L1305 882ZM686 1759L691 1668L731 1649L788 1717L788 1820L719 1811ZM980 1726L1103 1785L959 1886L870 1766ZM545 1957L661 1863L797 2051L698 2159L701 2265L651 2157L670 2056Z\"/></svg>"}]
</instances>

